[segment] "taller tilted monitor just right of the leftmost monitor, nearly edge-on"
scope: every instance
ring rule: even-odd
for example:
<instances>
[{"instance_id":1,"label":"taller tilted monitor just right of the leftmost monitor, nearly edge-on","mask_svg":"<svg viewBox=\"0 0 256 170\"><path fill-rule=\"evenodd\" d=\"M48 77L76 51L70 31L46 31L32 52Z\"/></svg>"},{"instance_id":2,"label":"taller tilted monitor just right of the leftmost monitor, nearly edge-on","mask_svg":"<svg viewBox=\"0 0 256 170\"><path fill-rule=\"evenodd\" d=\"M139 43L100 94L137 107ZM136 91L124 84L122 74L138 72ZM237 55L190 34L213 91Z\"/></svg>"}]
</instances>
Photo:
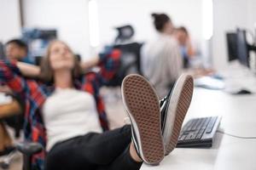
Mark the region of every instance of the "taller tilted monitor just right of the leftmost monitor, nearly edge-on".
<instances>
[{"instance_id":1,"label":"taller tilted monitor just right of the leftmost monitor, nearly edge-on","mask_svg":"<svg viewBox=\"0 0 256 170\"><path fill-rule=\"evenodd\" d=\"M249 49L247 45L246 31L237 29L237 59L239 59L242 65L249 65L248 57L249 57Z\"/></svg>"}]
</instances>

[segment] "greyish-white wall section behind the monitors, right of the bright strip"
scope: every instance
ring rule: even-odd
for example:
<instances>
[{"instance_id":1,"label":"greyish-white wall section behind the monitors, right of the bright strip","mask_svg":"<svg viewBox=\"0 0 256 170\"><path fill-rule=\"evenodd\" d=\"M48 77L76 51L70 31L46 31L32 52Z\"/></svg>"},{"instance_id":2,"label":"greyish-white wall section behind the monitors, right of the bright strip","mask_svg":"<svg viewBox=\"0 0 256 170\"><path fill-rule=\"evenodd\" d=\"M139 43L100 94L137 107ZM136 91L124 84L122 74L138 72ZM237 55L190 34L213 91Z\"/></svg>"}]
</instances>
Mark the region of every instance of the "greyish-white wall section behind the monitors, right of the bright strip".
<instances>
[{"instance_id":1,"label":"greyish-white wall section behind the monitors, right of the bright strip","mask_svg":"<svg viewBox=\"0 0 256 170\"><path fill-rule=\"evenodd\" d=\"M255 0L214 0L213 1L213 64L217 69L228 65L226 31L237 27L250 29L256 23Z\"/></svg>"}]
</instances>

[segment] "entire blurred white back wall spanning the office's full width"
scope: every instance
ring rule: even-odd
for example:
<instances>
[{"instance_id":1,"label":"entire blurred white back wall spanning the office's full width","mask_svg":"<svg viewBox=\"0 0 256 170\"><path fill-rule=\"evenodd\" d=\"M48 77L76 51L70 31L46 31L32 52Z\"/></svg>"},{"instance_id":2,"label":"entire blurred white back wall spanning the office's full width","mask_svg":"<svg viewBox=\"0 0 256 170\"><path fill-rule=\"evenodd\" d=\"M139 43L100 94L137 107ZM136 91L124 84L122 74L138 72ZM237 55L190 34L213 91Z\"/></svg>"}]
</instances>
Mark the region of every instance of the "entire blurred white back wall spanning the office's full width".
<instances>
[{"instance_id":1,"label":"entire blurred white back wall spanning the office's full width","mask_svg":"<svg viewBox=\"0 0 256 170\"><path fill-rule=\"evenodd\" d=\"M55 29L83 59L113 43L115 27L134 27L134 41L147 42L155 31L150 14L169 14L175 26L186 26L214 68L228 65L227 31L247 29L255 34L253 0L1 0L0 41L21 37L22 28ZM252 39L252 38L251 38Z\"/></svg>"}]
</instances>

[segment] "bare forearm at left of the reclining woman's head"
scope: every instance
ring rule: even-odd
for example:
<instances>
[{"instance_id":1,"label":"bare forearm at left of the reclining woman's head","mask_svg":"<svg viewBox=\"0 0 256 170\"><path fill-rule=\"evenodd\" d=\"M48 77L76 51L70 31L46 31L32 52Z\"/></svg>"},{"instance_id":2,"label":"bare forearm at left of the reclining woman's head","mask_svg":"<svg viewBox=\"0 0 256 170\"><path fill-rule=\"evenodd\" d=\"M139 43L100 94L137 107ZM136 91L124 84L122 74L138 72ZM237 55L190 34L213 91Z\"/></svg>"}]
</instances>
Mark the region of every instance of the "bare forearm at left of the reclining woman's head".
<instances>
[{"instance_id":1,"label":"bare forearm at left of the reclining woman's head","mask_svg":"<svg viewBox=\"0 0 256 170\"><path fill-rule=\"evenodd\" d=\"M25 77L38 77L40 74L40 67L36 65L30 65L23 62L17 62L17 67Z\"/></svg>"}]
</instances>

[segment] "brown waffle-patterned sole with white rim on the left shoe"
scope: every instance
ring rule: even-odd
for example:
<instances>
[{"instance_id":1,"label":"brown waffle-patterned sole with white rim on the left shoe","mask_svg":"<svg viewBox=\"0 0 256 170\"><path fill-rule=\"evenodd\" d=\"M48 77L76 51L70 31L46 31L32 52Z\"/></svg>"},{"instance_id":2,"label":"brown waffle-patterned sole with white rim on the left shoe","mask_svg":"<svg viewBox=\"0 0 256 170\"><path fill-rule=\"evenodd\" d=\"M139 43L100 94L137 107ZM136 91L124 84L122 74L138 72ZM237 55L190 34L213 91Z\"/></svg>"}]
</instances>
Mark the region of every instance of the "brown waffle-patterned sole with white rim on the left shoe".
<instances>
[{"instance_id":1,"label":"brown waffle-patterned sole with white rim on the left shoe","mask_svg":"<svg viewBox=\"0 0 256 170\"><path fill-rule=\"evenodd\" d=\"M157 165L164 158L160 126L159 99L150 83L142 76L131 74L122 82L122 99L131 119L139 155L147 164Z\"/></svg>"}]
</instances>

